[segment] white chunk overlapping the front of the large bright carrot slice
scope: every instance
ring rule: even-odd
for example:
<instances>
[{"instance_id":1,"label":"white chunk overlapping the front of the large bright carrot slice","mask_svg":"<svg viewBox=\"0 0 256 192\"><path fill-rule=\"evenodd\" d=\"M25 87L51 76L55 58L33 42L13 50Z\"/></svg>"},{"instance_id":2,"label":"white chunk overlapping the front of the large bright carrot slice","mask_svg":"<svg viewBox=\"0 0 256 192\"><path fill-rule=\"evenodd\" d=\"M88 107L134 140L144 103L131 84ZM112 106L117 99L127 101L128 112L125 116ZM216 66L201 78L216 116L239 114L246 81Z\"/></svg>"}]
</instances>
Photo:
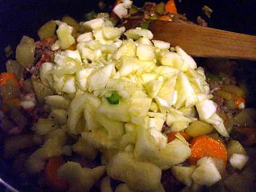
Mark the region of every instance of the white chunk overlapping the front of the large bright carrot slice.
<instances>
[{"instance_id":1,"label":"white chunk overlapping the front of the large bright carrot slice","mask_svg":"<svg viewBox=\"0 0 256 192\"><path fill-rule=\"evenodd\" d=\"M198 167L192 174L193 181L196 184L211 186L221 180L221 175L211 158L201 158L197 165Z\"/></svg>"}]
</instances>

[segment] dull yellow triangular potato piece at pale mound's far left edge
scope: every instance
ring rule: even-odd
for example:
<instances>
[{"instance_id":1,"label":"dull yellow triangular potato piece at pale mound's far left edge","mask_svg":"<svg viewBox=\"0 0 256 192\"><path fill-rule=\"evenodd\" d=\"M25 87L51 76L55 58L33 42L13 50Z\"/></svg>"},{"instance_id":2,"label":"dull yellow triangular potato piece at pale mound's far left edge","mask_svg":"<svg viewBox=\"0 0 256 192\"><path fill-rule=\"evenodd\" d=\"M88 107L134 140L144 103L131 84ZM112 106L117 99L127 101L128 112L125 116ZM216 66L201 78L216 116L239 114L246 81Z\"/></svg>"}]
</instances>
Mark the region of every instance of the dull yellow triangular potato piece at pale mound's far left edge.
<instances>
[{"instance_id":1,"label":"dull yellow triangular potato piece at pale mound's far left edge","mask_svg":"<svg viewBox=\"0 0 256 192\"><path fill-rule=\"evenodd\" d=\"M51 89L46 87L41 81L32 78L33 89L36 93L36 99L39 103L43 103L45 101L45 97L49 95L54 95Z\"/></svg>"}]
</instances>

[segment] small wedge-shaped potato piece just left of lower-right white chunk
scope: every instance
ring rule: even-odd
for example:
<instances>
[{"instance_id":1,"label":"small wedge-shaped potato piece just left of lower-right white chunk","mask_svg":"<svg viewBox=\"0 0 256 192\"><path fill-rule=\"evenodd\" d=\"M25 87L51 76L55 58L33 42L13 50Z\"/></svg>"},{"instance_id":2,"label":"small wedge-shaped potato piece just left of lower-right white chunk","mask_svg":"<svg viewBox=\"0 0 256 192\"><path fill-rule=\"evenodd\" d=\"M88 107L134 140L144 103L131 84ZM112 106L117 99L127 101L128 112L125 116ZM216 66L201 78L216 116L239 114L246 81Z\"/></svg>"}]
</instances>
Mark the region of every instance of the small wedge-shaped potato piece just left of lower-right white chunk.
<instances>
[{"instance_id":1,"label":"small wedge-shaped potato piece just left of lower-right white chunk","mask_svg":"<svg viewBox=\"0 0 256 192\"><path fill-rule=\"evenodd\" d=\"M187 186L192 184L192 173L195 170L195 166L172 166L171 172L177 180Z\"/></svg>"}]
</instances>

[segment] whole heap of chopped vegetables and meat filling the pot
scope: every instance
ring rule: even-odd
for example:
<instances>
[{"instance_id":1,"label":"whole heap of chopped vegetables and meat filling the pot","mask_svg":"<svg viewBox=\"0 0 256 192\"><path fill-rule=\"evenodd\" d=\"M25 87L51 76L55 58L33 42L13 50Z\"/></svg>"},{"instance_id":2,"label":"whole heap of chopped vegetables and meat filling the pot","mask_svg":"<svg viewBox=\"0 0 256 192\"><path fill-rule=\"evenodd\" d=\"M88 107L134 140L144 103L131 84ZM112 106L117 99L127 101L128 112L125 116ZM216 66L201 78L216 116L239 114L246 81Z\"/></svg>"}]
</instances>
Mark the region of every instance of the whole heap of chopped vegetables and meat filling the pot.
<instances>
[{"instance_id":1,"label":"whole heap of chopped vegetables and meat filling the pot","mask_svg":"<svg viewBox=\"0 0 256 192\"><path fill-rule=\"evenodd\" d=\"M113 11L123 17L131 5L124 0ZM227 128L227 113L214 102L224 98L238 123L254 122L254 109L242 110L243 90L210 88L212 74L206 78L179 46L141 27L115 27L105 13L81 23L49 21L38 35L36 43L23 36L17 61L0 75L1 126L17 135L5 139L5 158L30 147L21 156L27 172L43 172L52 190L89 191L101 179L101 191L168 191L166 171L199 190L220 181L226 166L242 169L248 161L242 144L229 139L233 122ZM114 188L113 180L120 181Z\"/></svg>"}]
</instances>

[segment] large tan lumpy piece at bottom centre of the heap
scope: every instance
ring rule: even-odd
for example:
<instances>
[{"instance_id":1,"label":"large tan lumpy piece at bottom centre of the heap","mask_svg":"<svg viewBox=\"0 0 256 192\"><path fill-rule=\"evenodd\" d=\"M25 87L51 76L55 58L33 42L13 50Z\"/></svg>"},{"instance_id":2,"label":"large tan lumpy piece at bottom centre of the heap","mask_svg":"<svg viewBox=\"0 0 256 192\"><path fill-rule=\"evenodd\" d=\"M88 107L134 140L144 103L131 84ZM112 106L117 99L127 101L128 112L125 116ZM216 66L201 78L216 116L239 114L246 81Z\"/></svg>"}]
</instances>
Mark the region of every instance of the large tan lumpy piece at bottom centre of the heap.
<instances>
[{"instance_id":1,"label":"large tan lumpy piece at bottom centre of the heap","mask_svg":"<svg viewBox=\"0 0 256 192\"><path fill-rule=\"evenodd\" d=\"M161 169L152 163L135 160L132 153L118 153L107 165L111 178L126 182L135 190L149 191L158 188Z\"/></svg>"}]
</instances>

